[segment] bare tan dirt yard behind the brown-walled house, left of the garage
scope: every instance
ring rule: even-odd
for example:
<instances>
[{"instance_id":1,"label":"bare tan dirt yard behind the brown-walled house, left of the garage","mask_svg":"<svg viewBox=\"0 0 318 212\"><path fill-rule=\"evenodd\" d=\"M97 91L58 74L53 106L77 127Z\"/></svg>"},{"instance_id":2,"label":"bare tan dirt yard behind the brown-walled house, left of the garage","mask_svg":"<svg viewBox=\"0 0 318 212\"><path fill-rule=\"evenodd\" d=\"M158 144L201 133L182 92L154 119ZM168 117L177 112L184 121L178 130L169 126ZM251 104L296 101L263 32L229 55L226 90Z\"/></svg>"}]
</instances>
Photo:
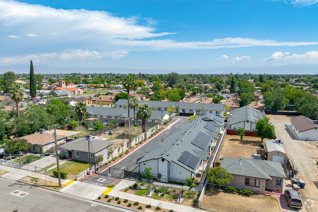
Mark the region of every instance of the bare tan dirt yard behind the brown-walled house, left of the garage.
<instances>
[{"instance_id":1,"label":"bare tan dirt yard behind the brown-walled house, left of the garage","mask_svg":"<svg viewBox=\"0 0 318 212\"><path fill-rule=\"evenodd\" d=\"M220 158L252 158L259 144L262 143L261 138L244 136L241 141L239 136L227 135L221 150Z\"/></svg>"}]
</instances>

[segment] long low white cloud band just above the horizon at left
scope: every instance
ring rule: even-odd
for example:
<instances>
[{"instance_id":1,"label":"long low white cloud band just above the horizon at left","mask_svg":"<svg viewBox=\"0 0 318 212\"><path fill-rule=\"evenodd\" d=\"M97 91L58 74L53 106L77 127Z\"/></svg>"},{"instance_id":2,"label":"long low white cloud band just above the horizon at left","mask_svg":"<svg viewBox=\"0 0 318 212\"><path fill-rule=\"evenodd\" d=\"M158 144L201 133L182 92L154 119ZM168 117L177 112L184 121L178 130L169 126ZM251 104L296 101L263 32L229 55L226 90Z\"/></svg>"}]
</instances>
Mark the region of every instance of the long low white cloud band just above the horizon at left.
<instances>
[{"instance_id":1,"label":"long low white cloud band just above the horizon at left","mask_svg":"<svg viewBox=\"0 0 318 212\"><path fill-rule=\"evenodd\" d=\"M42 53L42 54L30 54L30 55L20 55L14 57L4 57L0 58L0 63L21 63L28 62L30 60L34 62L45 61L48 58L58 59L58 60L81 60L81 59L100 59L100 58L109 58L118 59L125 57L129 54L129 51L118 50L118 51L104 51L98 52L95 50L66 50L63 52L53 52L53 53Z\"/></svg>"}]
</instances>

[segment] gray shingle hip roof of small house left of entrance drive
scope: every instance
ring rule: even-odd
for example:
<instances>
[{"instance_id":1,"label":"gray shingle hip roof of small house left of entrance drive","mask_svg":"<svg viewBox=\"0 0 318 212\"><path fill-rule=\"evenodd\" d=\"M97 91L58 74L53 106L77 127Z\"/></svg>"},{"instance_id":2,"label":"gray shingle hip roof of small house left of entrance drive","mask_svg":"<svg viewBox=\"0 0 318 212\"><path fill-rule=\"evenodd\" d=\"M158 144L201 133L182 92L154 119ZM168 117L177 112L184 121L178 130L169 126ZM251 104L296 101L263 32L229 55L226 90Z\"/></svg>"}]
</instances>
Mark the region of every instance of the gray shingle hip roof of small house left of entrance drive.
<instances>
[{"instance_id":1,"label":"gray shingle hip roof of small house left of entrance drive","mask_svg":"<svg viewBox=\"0 0 318 212\"><path fill-rule=\"evenodd\" d=\"M113 145L114 142L106 141L106 140L99 140L99 139L91 139L90 143L90 152L97 153L105 148L108 145ZM59 146L62 149L67 149L69 151L76 150L81 152L89 152L89 144L86 138L79 138L74 141L67 142Z\"/></svg>"}]
</instances>

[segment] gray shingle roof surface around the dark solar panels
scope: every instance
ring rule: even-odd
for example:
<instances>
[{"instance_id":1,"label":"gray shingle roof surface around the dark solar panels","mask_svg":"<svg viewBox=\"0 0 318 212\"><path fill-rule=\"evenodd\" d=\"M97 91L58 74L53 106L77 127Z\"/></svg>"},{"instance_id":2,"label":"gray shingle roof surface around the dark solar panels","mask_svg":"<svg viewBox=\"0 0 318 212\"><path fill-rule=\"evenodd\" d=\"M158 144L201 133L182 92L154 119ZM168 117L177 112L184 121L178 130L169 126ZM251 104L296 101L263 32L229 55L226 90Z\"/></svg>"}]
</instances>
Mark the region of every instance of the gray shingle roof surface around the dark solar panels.
<instances>
[{"instance_id":1,"label":"gray shingle roof surface around the dark solar panels","mask_svg":"<svg viewBox=\"0 0 318 212\"><path fill-rule=\"evenodd\" d=\"M141 158L137 163L164 158L165 160L174 162L194 173L200 165L201 160L206 161L209 154L210 145L208 145L205 150L202 150L191 143L200 132L208 134L208 130L204 128L205 124L205 121L198 119L183 125L182 129L179 129L179 131L164 139L157 147L154 148L154 146L151 146L147 148L146 152L149 153ZM178 161L184 151L188 151L201 159L194 169Z\"/></svg>"}]
</instances>

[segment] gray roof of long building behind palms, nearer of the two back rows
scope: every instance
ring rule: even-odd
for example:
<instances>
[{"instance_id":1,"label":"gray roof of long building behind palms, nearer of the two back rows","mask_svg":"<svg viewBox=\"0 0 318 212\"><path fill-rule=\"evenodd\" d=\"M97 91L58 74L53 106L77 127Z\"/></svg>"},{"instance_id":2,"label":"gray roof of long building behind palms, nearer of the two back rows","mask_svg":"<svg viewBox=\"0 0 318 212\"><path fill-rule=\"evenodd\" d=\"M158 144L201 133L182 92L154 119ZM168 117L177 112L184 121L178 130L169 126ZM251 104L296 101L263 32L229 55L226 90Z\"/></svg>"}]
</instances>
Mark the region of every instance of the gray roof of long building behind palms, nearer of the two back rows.
<instances>
[{"instance_id":1,"label":"gray roof of long building behind palms, nearer of the two back rows","mask_svg":"<svg viewBox=\"0 0 318 212\"><path fill-rule=\"evenodd\" d=\"M109 108L109 107L93 107L93 106L88 106L87 107L87 113L91 115L98 115L98 116L112 116L112 117L124 117L128 118L128 109L126 108ZM136 110L137 113L137 110ZM134 109L130 109L130 116L133 118L134 114ZM152 116L150 119L160 119L161 116L164 117L166 114L168 114L167 111L153 111Z\"/></svg>"}]
</instances>

